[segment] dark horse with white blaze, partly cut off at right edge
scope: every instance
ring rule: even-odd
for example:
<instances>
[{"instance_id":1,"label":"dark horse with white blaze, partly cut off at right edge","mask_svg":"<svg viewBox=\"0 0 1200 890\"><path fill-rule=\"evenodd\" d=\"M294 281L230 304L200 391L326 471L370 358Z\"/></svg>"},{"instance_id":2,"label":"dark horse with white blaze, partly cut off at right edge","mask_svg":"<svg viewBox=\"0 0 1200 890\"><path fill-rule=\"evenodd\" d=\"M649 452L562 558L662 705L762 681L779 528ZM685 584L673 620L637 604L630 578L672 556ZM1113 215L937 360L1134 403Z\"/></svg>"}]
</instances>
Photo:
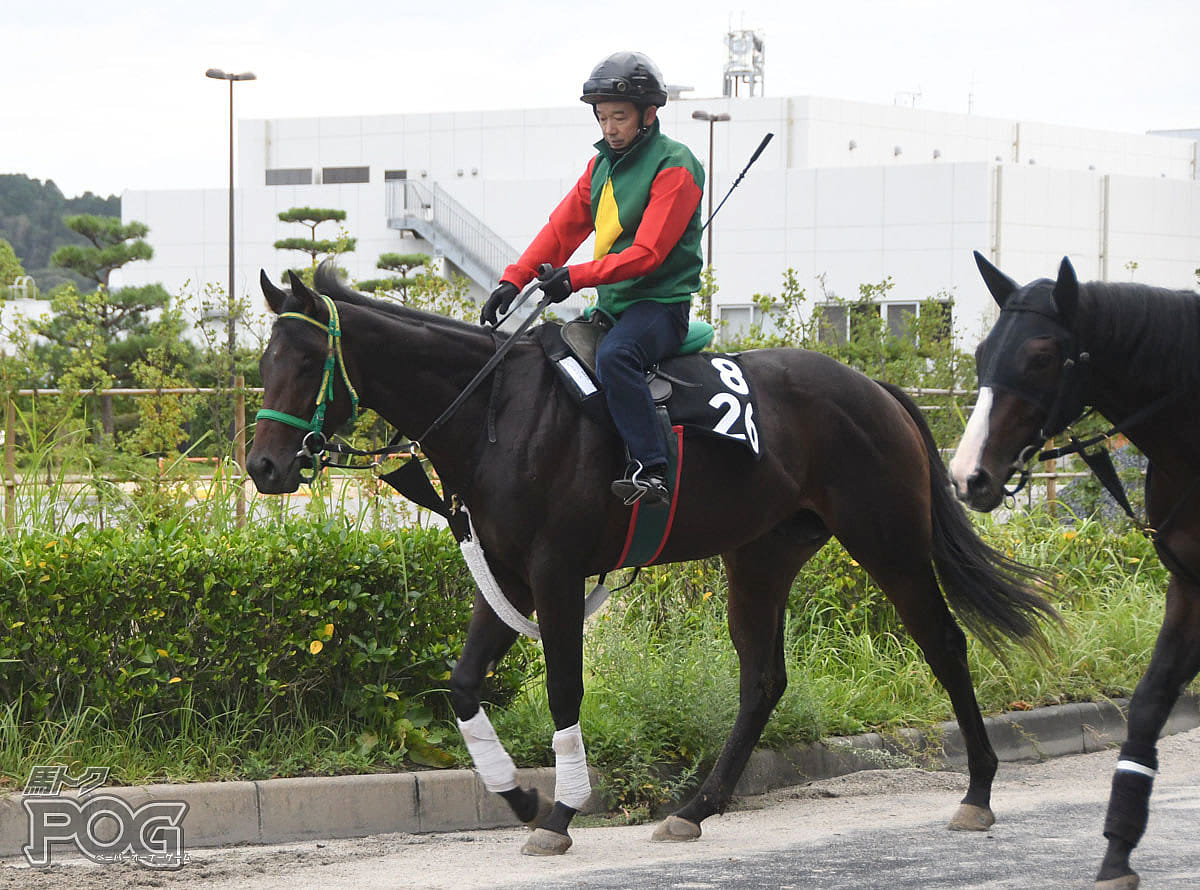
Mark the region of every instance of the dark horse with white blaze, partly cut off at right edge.
<instances>
[{"instance_id":1,"label":"dark horse with white blaze, partly cut off at right edge","mask_svg":"<svg viewBox=\"0 0 1200 890\"><path fill-rule=\"evenodd\" d=\"M1151 459L1148 525L1170 570L1166 614L1129 703L1097 888L1132 890L1129 865L1171 706L1200 669L1200 295L1142 284L1080 284L1063 258L1056 281L1019 287L976 253L1000 318L979 344L979 401L950 463L976 510L1003 499L1008 477L1092 407Z\"/></svg>"}]
</instances>

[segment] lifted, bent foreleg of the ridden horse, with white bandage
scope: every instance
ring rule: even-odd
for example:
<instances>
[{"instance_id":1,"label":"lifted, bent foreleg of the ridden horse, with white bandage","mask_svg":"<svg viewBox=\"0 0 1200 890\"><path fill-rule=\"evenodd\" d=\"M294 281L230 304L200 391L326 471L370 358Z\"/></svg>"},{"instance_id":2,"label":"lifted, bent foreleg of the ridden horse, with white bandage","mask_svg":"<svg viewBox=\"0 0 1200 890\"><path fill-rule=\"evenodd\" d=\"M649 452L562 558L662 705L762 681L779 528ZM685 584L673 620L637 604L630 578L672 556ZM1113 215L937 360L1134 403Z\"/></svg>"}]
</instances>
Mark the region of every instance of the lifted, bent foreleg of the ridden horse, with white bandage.
<instances>
[{"instance_id":1,"label":"lifted, bent foreleg of the ridden horse, with white bandage","mask_svg":"<svg viewBox=\"0 0 1200 890\"><path fill-rule=\"evenodd\" d=\"M476 593L467 642L450 674L450 703L484 787L503 796L521 822L536 828L550 813L550 801L541 798L536 788L521 788L517 784L512 758L480 706L484 678L491 666L512 647L516 637L516 631L500 621L492 607Z\"/></svg>"}]
</instances>

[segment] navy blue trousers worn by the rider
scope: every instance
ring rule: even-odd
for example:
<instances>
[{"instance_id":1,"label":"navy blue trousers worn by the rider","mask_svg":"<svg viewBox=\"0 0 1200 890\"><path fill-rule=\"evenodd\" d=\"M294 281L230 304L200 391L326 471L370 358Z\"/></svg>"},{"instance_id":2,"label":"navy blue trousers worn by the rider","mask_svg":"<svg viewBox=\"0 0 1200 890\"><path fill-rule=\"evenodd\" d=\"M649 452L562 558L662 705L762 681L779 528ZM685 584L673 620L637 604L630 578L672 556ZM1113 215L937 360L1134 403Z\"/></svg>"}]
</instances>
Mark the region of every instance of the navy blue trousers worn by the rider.
<instances>
[{"instance_id":1,"label":"navy blue trousers worn by the rider","mask_svg":"<svg viewBox=\"0 0 1200 890\"><path fill-rule=\"evenodd\" d=\"M608 411L630 457L652 467L667 462L667 444L654 415L646 372L673 355L688 335L691 301L635 302L596 350L596 374Z\"/></svg>"}]
</instances>

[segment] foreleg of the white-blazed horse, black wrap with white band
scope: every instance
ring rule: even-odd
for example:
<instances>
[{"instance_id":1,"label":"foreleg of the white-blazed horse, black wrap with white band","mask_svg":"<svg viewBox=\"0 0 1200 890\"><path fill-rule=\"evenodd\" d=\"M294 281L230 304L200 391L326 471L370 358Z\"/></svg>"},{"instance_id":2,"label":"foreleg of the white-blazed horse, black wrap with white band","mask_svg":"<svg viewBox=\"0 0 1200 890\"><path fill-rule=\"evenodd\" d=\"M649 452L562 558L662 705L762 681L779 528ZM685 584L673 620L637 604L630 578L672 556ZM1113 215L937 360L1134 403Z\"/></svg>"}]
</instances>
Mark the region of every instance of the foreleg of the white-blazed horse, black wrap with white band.
<instances>
[{"instance_id":1,"label":"foreleg of the white-blazed horse, black wrap with white band","mask_svg":"<svg viewBox=\"0 0 1200 890\"><path fill-rule=\"evenodd\" d=\"M1138 874L1129 865L1150 818L1150 792L1158 770L1158 735L1183 687L1200 670L1200 591L1174 576L1166 589L1166 614L1150 668L1129 700L1129 724L1121 746L1104 836L1109 846L1096 876L1104 890L1133 890Z\"/></svg>"}]
</instances>

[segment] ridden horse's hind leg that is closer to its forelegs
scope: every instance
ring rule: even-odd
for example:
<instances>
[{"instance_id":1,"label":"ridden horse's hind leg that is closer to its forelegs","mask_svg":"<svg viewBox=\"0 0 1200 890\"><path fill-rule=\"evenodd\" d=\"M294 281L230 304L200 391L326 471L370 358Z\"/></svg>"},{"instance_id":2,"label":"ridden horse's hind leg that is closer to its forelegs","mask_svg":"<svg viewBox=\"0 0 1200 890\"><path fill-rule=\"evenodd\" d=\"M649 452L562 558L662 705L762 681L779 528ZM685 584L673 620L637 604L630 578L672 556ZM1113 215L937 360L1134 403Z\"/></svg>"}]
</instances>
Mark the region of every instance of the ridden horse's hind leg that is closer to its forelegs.
<instances>
[{"instance_id":1,"label":"ridden horse's hind leg that is closer to its forelegs","mask_svg":"<svg viewBox=\"0 0 1200 890\"><path fill-rule=\"evenodd\" d=\"M782 626L787 591L800 565L823 543L824 539L798 545L781 528L725 554L730 637L740 667L738 716L713 771L696 795L655 829L655 841L700 837L700 823L728 806L762 728L787 687Z\"/></svg>"}]
</instances>

